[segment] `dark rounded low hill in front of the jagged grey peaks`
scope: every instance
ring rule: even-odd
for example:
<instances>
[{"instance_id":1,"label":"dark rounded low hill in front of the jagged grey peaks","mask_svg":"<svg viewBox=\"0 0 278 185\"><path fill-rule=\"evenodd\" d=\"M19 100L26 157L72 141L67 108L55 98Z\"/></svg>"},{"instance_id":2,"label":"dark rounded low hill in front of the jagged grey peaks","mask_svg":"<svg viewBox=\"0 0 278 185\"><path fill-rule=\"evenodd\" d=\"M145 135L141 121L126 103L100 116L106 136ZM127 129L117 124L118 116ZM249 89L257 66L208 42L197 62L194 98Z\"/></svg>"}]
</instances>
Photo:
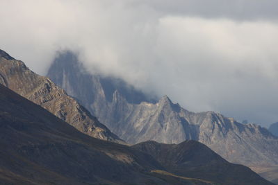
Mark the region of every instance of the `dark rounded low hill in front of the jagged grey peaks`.
<instances>
[{"instance_id":1,"label":"dark rounded low hill in front of the jagged grey peaks","mask_svg":"<svg viewBox=\"0 0 278 185\"><path fill-rule=\"evenodd\" d=\"M213 180L220 184L222 182L225 184L248 184L250 179L259 176L255 173L248 177L245 176L244 174L252 172L252 170L241 165L230 165L222 157L197 141L184 141L179 144L146 141L132 147L152 155L167 170L176 175L189 175L196 179ZM244 182L245 180L246 182ZM261 184L263 182L253 183Z\"/></svg>"}]
</instances>

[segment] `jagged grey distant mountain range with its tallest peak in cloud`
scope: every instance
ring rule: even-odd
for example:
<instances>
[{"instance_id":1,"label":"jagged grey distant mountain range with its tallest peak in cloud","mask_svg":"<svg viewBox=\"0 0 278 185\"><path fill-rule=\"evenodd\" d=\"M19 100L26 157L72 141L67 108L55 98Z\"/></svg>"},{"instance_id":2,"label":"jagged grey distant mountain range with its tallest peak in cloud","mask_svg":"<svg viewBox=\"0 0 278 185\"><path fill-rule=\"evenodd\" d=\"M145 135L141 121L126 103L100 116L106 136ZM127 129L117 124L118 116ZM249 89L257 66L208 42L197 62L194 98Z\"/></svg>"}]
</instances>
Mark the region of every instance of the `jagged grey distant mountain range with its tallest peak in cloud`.
<instances>
[{"instance_id":1,"label":"jagged grey distant mountain range with its tallest peak in cloud","mask_svg":"<svg viewBox=\"0 0 278 185\"><path fill-rule=\"evenodd\" d=\"M106 93L102 77L86 72L70 52L56 58L48 76L128 143L194 139L228 161L253 169L278 168L278 139L259 125L238 123L215 112L190 112L167 96L156 103L146 97L131 102L113 80L116 88Z\"/></svg>"}]
</instances>

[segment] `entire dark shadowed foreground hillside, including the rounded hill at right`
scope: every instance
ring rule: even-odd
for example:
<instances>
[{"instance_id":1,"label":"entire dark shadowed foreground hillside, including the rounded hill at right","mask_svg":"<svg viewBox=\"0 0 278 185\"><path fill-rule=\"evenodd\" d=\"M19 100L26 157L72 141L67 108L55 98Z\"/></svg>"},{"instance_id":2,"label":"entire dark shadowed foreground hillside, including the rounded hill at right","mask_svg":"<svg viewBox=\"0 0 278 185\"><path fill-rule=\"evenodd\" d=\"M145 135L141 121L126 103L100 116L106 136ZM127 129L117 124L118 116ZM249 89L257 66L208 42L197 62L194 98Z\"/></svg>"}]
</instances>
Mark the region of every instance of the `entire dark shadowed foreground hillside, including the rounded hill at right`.
<instances>
[{"instance_id":1,"label":"entire dark shadowed foreground hillside, including the rounded hill at right","mask_svg":"<svg viewBox=\"0 0 278 185\"><path fill-rule=\"evenodd\" d=\"M92 138L3 85L0 127L1 184L271 184L197 141Z\"/></svg>"}]
</instances>

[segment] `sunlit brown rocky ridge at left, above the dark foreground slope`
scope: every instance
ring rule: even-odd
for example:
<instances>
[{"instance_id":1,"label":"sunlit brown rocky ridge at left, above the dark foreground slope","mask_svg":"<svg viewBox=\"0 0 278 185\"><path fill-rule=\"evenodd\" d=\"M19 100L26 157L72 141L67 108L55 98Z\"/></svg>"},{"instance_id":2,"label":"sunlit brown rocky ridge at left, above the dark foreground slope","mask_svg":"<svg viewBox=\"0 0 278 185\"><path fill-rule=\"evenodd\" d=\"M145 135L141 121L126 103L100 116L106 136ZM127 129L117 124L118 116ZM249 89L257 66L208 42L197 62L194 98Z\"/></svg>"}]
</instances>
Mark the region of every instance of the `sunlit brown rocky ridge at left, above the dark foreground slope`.
<instances>
[{"instance_id":1,"label":"sunlit brown rocky ridge at left, above the dark foreground slope","mask_svg":"<svg viewBox=\"0 0 278 185\"><path fill-rule=\"evenodd\" d=\"M106 141L123 142L49 78L39 76L28 69L23 62L15 60L1 50L0 83L33 103L41 105L85 134Z\"/></svg>"}]
</instances>

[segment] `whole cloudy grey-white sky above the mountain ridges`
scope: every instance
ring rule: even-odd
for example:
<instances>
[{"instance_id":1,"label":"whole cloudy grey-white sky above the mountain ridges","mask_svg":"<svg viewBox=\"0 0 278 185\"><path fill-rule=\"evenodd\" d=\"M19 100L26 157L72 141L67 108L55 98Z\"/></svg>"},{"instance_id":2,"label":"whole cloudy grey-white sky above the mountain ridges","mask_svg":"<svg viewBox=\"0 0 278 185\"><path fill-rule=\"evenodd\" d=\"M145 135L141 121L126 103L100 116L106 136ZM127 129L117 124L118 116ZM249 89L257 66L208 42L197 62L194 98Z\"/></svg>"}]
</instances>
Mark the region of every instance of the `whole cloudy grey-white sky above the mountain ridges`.
<instances>
[{"instance_id":1,"label":"whole cloudy grey-white sky above the mountain ridges","mask_svg":"<svg viewBox=\"0 0 278 185\"><path fill-rule=\"evenodd\" d=\"M184 108L278 121L277 0L0 0L0 49L45 74L71 49L92 72Z\"/></svg>"}]
</instances>

